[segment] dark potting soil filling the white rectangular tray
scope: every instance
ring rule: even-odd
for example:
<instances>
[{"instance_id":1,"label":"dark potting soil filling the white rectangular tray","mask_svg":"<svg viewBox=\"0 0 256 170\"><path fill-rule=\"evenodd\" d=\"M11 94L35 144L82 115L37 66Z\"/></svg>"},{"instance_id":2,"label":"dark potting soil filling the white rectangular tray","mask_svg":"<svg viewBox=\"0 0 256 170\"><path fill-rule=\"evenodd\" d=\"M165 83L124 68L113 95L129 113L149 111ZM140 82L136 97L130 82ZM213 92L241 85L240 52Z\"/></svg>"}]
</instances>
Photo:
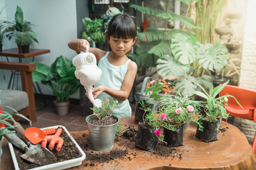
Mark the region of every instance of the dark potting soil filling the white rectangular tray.
<instances>
[{"instance_id":1,"label":"dark potting soil filling the white rectangular tray","mask_svg":"<svg viewBox=\"0 0 256 170\"><path fill-rule=\"evenodd\" d=\"M57 128L57 129L59 129L59 128ZM56 131L57 131L57 129L56 129ZM63 128L61 128L61 129L62 129L62 133L60 134L60 137L63 137L63 140L64 140L63 146L61 147L60 151L56 151L55 149L53 149L51 151L52 154L54 154L56 156L57 161L54 162L54 161L48 159L49 162L47 164L63 162L65 160L70 160L70 159L75 159L75 158L81 157L81 155L79 154L79 150L76 147L75 143L71 140L71 138L69 138L69 136L65 132L65 130ZM49 145L49 143L47 143L47 146L46 146L47 148L48 148L48 145ZM25 154L25 152L20 150L18 147L14 146L14 145L13 145L13 147L14 147L15 156L16 156L20 170L40 167L40 165L30 163L27 160L20 158L20 155Z\"/></svg>"}]
</instances>

